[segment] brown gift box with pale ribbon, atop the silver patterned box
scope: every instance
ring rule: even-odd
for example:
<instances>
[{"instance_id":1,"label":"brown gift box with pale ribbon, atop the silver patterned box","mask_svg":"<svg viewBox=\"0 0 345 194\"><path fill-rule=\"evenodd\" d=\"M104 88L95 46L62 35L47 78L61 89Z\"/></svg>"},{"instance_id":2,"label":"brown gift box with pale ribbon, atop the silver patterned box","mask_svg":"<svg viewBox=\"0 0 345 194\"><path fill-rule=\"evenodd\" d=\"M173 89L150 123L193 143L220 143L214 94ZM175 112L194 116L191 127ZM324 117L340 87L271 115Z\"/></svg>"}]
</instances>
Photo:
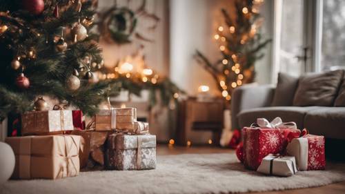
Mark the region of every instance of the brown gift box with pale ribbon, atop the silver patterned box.
<instances>
[{"instance_id":1,"label":"brown gift box with pale ribbon, atop the silver patterned box","mask_svg":"<svg viewBox=\"0 0 345 194\"><path fill-rule=\"evenodd\" d=\"M117 124L137 122L137 108L100 110L95 116L95 130L115 130Z\"/></svg>"}]
</instances>

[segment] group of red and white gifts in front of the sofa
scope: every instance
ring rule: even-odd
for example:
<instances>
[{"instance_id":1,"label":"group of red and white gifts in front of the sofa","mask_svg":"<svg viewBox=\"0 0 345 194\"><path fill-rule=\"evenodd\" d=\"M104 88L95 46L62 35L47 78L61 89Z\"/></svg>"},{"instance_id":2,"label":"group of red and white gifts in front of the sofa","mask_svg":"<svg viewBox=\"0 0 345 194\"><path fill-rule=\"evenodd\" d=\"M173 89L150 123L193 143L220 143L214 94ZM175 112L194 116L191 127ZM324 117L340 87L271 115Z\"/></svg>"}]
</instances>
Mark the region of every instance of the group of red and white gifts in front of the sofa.
<instances>
[{"instance_id":1,"label":"group of red and white gifts in front of the sofa","mask_svg":"<svg viewBox=\"0 0 345 194\"><path fill-rule=\"evenodd\" d=\"M324 170L324 136L302 132L293 122L257 119L242 129L244 166L267 175L290 176L297 171Z\"/></svg>"}]
</instances>

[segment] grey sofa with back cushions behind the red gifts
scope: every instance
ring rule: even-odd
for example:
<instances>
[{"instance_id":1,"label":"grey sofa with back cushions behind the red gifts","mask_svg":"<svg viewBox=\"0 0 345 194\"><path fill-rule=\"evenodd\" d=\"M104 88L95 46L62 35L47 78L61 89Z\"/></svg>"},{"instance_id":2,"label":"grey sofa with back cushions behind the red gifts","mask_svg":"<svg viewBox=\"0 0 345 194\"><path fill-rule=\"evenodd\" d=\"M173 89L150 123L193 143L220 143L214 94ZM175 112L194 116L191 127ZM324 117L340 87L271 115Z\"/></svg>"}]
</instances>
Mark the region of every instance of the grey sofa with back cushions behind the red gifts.
<instances>
[{"instance_id":1,"label":"grey sofa with back cushions behind the red gifts","mask_svg":"<svg viewBox=\"0 0 345 194\"><path fill-rule=\"evenodd\" d=\"M345 142L344 70L302 77L279 73L277 87L248 84L234 90L232 128L250 126L259 117L282 117L284 122L295 122L311 134Z\"/></svg>"}]
</instances>

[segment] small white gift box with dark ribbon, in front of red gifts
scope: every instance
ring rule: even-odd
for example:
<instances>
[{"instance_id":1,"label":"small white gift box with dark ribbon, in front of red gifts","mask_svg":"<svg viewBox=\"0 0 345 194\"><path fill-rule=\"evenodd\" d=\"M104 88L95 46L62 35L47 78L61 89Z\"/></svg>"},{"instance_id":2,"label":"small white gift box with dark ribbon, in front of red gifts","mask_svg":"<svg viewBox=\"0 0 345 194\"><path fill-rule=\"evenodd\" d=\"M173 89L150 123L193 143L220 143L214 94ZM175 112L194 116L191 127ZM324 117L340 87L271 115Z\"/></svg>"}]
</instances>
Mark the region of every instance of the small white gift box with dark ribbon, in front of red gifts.
<instances>
[{"instance_id":1,"label":"small white gift box with dark ribbon, in front of red gifts","mask_svg":"<svg viewBox=\"0 0 345 194\"><path fill-rule=\"evenodd\" d=\"M262 159L257 172L283 177L295 175L297 172L295 157L269 154Z\"/></svg>"}]
</instances>

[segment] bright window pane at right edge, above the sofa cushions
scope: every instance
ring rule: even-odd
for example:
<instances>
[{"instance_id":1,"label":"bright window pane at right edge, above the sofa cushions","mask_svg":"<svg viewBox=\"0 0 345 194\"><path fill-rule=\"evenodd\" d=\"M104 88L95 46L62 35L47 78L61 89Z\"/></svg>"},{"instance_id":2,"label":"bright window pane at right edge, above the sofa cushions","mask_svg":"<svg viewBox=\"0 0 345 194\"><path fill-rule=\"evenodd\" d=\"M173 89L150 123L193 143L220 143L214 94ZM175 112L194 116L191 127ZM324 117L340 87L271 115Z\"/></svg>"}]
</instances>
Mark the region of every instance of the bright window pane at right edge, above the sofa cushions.
<instances>
[{"instance_id":1,"label":"bright window pane at right edge, above the sofa cushions","mask_svg":"<svg viewBox=\"0 0 345 194\"><path fill-rule=\"evenodd\" d=\"M345 1L323 1L322 70L345 68Z\"/></svg>"}]
</instances>

